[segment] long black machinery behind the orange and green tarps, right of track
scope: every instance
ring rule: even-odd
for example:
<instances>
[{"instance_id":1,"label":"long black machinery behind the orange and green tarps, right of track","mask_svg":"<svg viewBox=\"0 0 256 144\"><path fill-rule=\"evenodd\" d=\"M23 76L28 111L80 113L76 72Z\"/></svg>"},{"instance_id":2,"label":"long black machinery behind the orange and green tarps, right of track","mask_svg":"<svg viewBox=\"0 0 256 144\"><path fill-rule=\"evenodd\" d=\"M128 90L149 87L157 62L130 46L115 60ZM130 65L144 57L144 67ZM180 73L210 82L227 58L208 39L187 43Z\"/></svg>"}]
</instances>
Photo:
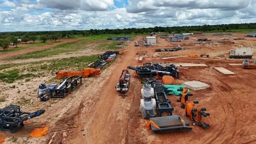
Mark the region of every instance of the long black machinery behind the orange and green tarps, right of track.
<instances>
[{"instance_id":1,"label":"long black machinery behind the orange and green tarps, right of track","mask_svg":"<svg viewBox=\"0 0 256 144\"><path fill-rule=\"evenodd\" d=\"M136 75L141 79L146 78L162 78L164 75L172 76L173 78L179 78L179 70L173 64L166 64L166 67L161 66L159 63L151 65L143 65L140 67L127 66L127 68L135 70Z\"/></svg>"}]
</instances>

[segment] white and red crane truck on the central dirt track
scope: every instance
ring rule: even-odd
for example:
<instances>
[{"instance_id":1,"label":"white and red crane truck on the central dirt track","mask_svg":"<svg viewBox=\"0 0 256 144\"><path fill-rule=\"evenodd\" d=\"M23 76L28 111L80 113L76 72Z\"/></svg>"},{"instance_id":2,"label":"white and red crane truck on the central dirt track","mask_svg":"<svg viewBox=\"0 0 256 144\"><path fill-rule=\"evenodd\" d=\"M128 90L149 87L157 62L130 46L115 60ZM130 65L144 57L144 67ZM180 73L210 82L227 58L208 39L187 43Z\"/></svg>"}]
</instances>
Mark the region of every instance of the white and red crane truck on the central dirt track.
<instances>
[{"instance_id":1,"label":"white and red crane truck on the central dirt track","mask_svg":"<svg viewBox=\"0 0 256 144\"><path fill-rule=\"evenodd\" d=\"M119 81L116 85L116 91L127 92L129 89L129 83L130 83L130 72L128 72L128 70L123 70L119 78Z\"/></svg>"}]
</instances>

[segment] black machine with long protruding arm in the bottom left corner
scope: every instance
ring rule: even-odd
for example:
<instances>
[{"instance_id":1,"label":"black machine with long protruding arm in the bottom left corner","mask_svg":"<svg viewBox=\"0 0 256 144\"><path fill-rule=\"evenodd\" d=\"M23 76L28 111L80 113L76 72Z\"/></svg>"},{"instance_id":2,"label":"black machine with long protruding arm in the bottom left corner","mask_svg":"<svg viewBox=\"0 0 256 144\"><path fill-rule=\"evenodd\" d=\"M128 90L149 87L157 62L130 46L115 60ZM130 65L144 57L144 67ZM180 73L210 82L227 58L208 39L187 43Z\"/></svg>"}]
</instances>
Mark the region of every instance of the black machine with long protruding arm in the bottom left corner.
<instances>
[{"instance_id":1,"label":"black machine with long protruding arm in the bottom left corner","mask_svg":"<svg viewBox=\"0 0 256 144\"><path fill-rule=\"evenodd\" d=\"M20 106L10 105L0 109L0 131L15 132L24 126L23 122L30 118L40 116L45 110L38 110L36 112L21 112Z\"/></svg>"}]
</instances>

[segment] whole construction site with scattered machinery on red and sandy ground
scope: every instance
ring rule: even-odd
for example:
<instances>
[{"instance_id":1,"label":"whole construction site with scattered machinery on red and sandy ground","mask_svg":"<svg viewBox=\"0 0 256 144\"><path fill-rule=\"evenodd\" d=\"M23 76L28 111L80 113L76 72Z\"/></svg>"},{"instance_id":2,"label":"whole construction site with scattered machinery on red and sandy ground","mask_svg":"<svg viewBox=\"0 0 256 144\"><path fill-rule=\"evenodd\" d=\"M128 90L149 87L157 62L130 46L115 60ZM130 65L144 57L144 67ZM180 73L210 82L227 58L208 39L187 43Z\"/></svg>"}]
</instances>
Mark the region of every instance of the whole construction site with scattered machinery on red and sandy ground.
<instances>
[{"instance_id":1,"label":"whole construction site with scattered machinery on red and sandy ground","mask_svg":"<svg viewBox=\"0 0 256 144\"><path fill-rule=\"evenodd\" d=\"M107 39L123 40L119 49L100 49L99 40L92 40L84 43L90 49L67 53L66 59L59 54L10 60L4 58L14 52L1 54L0 73L15 67L24 76L31 73L31 80L20 75L13 82L0 81L0 140L256 143L256 98L251 94L256 84L255 38L244 39L242 33L154 34ZM14 56L21 54L16 51ZM90 58L83 61L81 56ZM62 68L58 60L66 65ZM35 128L41 128L42 136Z\"/></svg>"}]
</instances>

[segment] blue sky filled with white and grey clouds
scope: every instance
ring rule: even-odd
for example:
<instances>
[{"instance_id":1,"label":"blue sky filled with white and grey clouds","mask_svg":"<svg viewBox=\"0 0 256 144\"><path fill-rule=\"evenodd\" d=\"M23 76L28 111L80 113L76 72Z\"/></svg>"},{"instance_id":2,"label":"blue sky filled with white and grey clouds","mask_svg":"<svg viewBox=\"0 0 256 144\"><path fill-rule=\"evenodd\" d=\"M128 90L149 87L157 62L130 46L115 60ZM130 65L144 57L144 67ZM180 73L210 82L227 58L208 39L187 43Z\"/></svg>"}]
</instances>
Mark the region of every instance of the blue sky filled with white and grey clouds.
<instances>
[{"instance_id":1,"label":"blue sky filled with white and grey clouds","mask_svg":"<svg viewBox=\"0 0 256 144\"><path fill-rule=\"evenodd\" d=\"M0 32L256 22L256 0L0 0Z\"/></svg>"}]
</instances>

